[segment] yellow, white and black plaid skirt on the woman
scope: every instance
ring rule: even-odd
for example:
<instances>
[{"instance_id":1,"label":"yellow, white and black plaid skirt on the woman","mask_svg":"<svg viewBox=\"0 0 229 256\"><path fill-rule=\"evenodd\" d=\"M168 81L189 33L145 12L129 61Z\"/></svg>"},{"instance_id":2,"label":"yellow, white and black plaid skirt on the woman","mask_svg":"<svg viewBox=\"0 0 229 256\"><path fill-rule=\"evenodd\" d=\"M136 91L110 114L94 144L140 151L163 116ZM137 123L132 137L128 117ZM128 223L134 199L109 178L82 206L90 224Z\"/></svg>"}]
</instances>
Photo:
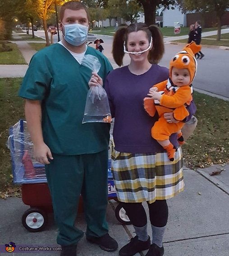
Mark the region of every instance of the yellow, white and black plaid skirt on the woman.
<instances>
[{"instance_id":1,"label":"yellow, white and black plaid skirt on the woman","mask_svg":"<svg viewBox=\"0 0 229 256\"><path fill-rule=\"evenodd\" d=\"M112 151L111 171L120 202L141 203L174 197L184 190L182 150L174 161L167 153L123 153Z\"/></svg>"}]
</instances>

